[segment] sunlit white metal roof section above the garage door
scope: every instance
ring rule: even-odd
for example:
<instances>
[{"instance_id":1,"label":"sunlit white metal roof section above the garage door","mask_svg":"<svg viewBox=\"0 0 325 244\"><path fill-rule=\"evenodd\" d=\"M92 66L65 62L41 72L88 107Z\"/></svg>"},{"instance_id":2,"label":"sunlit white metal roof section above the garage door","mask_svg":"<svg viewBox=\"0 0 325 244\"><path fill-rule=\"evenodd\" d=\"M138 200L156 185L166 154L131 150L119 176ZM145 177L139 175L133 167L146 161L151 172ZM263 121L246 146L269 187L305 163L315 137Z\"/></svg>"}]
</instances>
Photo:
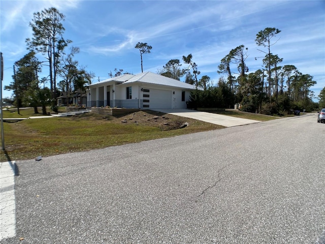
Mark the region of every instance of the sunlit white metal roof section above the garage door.
<instances>
[{"instance_id":1,"label":"sunlit white metal roof section above the garage door","mask_svg":"<svg viewBox=\"0 0 325 244\"><path fill-rule=\"evenodd\" d=\"M145 72L145 73L134 75L132 78L123 82L123 84L134 83L134 82L149 83L149 84L156 84L156 85L167 85L167 86L180 87L186 89L195 89L194 85L179 80L175 80L163 75L158 75L152 72Z\"/></svg>"}]
</instances>

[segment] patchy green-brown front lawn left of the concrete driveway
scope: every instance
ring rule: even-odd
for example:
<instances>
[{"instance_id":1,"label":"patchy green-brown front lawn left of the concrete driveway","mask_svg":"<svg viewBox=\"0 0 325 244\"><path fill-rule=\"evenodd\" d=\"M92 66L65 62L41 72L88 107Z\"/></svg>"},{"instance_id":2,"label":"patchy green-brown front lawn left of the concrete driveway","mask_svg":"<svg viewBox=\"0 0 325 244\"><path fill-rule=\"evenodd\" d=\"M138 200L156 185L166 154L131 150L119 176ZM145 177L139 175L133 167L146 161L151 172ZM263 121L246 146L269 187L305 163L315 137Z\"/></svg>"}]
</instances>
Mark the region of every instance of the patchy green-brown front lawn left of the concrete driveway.
<instances>
[{"instance_id":1,"label":"patchy green-brown front lawn left of the concrete driveway","mask_svg":"<svg viewBox=\"0 0 325 244\"><path fill-rule=\"evenodd\" d=\"M20 109L20 114L3 110L4 118L35 116L33 109ZM224 128L150 110L122 117L104 116L87 113L72 117L6 122L6 150L2 151L0 160L33 159L37 156L46 157ZM122 123L123 120L127 122ZM180 129L185 122L188 126Z\"/></svg>"}]
</instances>

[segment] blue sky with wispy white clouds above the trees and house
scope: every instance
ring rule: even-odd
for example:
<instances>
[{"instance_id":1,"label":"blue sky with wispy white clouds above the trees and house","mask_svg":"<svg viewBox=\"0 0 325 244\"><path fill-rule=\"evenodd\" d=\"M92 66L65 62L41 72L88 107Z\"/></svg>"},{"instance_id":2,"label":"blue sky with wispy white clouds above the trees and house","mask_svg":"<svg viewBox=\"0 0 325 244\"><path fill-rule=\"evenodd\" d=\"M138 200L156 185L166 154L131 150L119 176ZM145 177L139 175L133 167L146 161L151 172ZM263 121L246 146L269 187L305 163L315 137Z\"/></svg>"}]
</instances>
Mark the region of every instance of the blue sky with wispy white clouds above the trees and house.
<instances>
[{"instance_id":1,"label":"blue sky with wispy white clouds above the trees and house","mask_svg":"<svg viewBox=\"0 0 325 244\"><path fill-rule=\"evenodd\" d=\"M114 69L141 72L138 42L152 46L143 55L143 69L156 73L170 59L192 54L200 76L217 83L217 67L231 49L248 48L249 72L261 69L265 56L255 43L266 27L278 28L273 54L281 65L295 65L317 82L318 96L325 86L325 1L7 1L1 0L0 50L4 57L3 86L12 82L13 64L26 53L32 35L33 13L55 7L66 16L64 38L79 47L79 65L107 79ZM43 56L39 56L44 60ZM182 68L186 68L185 64ZM236 67L232 67L236 71ZM48 74L43 67L43 76ZM60 80L60 78L58 78ZM3 97L11 91L3 90ZM318 101L318 100L315 100Z\"/></svg>"}]
</instances>

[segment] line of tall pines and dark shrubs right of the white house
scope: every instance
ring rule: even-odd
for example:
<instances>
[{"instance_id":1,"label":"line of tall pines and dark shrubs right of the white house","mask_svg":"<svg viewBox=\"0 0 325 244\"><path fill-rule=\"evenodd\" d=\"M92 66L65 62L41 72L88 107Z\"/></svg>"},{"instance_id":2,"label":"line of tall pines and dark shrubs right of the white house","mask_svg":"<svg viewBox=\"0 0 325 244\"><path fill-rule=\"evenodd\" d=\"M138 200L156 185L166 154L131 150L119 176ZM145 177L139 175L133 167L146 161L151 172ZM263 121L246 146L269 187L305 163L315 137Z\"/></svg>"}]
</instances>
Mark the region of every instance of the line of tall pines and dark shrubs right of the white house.
<instances>
[{"instance_id":1,"label":"line of tall pines and dark shrubs right of the white house","mask_svg":"<svg viewBox=\"0 0 325 244\"><path fill-rule=\"evenodd\" d=\"M222 76L216 85L209 76L203 75L198 79L201 72L192 61L191 54L182 57L187 68L181 69L179 59L171 59L158 73L177 80L185 76L186 83L197 87L190 96L192 108L231 108L240 104L243 111L264 114L315 110L318 104L312 101L314 93L310 89L316 84L313 77L302 74L294 65L281 66L283 58L272 53L272 46L278 42L280 32L277 28L267 27L256 34L258 50L265 56L262 57L264 69L253 73L249 73L246 65L248 48L244 45L230 50L220 60L217 73ZM319 107L324 106L323 90L319 95Z\"/></svg>"}]
</instances>

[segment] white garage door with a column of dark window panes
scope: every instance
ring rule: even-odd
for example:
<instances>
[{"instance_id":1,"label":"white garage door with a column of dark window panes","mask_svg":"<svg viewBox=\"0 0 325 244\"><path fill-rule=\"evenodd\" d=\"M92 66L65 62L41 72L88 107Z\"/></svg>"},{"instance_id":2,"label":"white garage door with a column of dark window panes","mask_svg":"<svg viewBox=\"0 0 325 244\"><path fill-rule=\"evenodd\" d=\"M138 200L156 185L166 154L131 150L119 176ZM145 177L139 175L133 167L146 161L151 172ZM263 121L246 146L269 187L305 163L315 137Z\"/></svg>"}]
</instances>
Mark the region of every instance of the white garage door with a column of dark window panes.
<instances>
[{"instance_id":1,"label":"white garage door with a column of dark window panes","mask_svg":"<svg viewBox=\"0 0 325 244\"><path fill-rule=\"evenodd\" d=\"M143 107L172 108L172 92L170 90L143 88Z\"/></svg>"}]
</instances>

